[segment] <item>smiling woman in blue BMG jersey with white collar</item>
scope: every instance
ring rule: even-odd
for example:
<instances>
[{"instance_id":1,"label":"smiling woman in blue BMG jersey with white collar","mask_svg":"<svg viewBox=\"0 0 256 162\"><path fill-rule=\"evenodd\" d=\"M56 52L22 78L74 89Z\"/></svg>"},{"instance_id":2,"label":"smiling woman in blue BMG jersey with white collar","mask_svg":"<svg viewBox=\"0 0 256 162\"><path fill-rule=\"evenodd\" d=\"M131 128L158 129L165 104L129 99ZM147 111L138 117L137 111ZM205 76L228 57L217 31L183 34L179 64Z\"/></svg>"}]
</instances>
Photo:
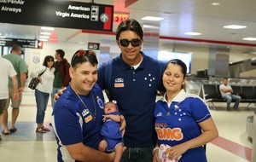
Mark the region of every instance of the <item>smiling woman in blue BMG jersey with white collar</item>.
<instances>
[{"instance_id":1,"label":"smiling woman in blue BMG jersey with white collar","mask_svg":"<svg viewBox=\"0 0 256 162\"><path fill-rule=\"evenodd\" d=\"M207 162L203 145L218 137L207 104L198 95L185 92L186 72L183 61L174 59L166 64L166 94L154 110L158 137L154 162Z\"/></svg>"}]
</instances>

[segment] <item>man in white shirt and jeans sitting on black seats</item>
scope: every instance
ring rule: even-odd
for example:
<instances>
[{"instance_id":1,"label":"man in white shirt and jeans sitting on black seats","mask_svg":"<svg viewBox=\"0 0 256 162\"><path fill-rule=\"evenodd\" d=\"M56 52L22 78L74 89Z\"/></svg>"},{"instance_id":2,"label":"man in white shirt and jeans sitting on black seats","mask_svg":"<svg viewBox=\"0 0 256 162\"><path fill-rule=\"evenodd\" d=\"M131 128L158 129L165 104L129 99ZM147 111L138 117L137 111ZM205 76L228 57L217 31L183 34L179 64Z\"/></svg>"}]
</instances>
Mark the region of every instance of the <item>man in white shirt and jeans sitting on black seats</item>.
<instances>
[{"instance_id":1,"label":"man in white shirt and jeans sitting on black seats","mask_svg":"<svg viewBox=\"0 0 256 162\"><path fill-rule=\"evenodd\" d=\"M230 103L232 100L236 101L233 109L238 110L239 103L241 101L241 96L235 95L232 87L228 84L228 78L223 78L223 84L219 85L219 91L222 98L227 100L227 110L230 111Z\"/></svg>"}]
</instances>

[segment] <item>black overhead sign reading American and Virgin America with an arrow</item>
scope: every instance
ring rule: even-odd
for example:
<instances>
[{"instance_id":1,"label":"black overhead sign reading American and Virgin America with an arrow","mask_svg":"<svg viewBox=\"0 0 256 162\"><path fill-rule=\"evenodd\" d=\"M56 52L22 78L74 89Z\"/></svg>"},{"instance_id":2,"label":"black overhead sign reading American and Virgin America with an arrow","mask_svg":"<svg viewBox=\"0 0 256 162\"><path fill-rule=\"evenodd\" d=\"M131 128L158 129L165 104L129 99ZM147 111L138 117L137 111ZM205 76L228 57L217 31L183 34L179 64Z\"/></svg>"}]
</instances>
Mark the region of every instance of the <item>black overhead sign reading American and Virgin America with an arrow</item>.
<instances>
[{"instance_id":1,"label":"black overhead sign reading American and Virgin America with an arrow","mask_svg":"<svg viewBox=\"0 0 256 162\"><path fill-rule=\"evenodd\" d=\"M0 22L112 32L113 6L61 0L0 0Z\"/></svg>"}]
</instances>

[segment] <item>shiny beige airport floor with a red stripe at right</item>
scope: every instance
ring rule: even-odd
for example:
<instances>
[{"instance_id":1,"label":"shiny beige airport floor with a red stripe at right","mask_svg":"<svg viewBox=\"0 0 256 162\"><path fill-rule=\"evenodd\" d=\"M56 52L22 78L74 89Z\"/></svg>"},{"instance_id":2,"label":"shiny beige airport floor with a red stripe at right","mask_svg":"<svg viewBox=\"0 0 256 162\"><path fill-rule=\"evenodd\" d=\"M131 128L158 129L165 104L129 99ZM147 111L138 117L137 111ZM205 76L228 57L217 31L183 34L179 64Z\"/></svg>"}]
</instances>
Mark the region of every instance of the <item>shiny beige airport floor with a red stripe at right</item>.
<instances>
[{"instance_id":1,"label":"shiny beige airport floor with a red stripe at right","mask_svg":"<svg viewBox=\"0 0 256 162\"><path fill-rule=\"evenodd\" d=\"M247 116L253 111L241 104L241 111L226 112L224 104L218 110L211 110L212 118L218 127L219 137L207 144L209 162L247 162L251 161L252 143L247 140ZM251 106L253 107L253 105ZM9 108L10 114L11 108ZM52 108L47 107L45 126L49 126ZM3 136L0 142L0 161L7 162L45 162L56 161L56 143L52 131L40 134L35 131L36 105L32 90L23 95L17 132ZM2 127L3 130L3 127ZM2 131L1 130L1 131ZM255 148L256 149L256 148Z\"/></svg>"}]
</instances>

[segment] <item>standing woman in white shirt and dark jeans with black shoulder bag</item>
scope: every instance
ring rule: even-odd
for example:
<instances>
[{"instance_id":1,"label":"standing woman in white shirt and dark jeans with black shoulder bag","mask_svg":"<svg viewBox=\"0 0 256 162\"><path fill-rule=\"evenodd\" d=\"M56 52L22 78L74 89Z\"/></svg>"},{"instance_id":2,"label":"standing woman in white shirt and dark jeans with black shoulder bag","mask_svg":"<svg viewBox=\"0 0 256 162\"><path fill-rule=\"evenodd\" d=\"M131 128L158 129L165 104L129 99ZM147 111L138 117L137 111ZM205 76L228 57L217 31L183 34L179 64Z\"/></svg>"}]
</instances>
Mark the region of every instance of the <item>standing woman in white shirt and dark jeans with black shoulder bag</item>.
<instances>
[{"instance_id":1,"label":"standing woman in white shirt and dark jeans with black shoulder bag","mask_svg":"<svg viewBox=\"0 0 256 162\"><path fill-rule=\"evenodd\" d=\"M54 67L54 57L47 55L44 58L43 67L31 72L31 77L38 77L38 74L44 72L38 79L40 83L35 90L36 102L37 102L37 119L38 124L36 131L39 133L45 133L49 131L49 128L44 127L44 115L45 110L49 101L49 94L53 89L53 80L55 78L55 67Z\"/></svg>"}]
</instances>

